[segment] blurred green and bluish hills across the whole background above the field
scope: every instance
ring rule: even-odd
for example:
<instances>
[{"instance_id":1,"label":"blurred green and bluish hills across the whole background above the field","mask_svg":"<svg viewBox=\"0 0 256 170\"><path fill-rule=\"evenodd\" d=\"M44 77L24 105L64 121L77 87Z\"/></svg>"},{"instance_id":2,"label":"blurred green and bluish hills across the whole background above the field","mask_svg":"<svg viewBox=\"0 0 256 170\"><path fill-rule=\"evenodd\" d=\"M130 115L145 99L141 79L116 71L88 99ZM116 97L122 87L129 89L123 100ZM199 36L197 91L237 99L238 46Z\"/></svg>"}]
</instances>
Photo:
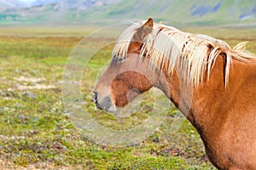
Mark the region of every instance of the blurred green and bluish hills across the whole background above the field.
<instances>
[{"instance_id":1,"label":"blurred green and bluish hills across the whole background above the field","mask_svg":"<svg viewBox=\"0 0 256 170\"><path fill-rule=\"evenodd\" d=\"M11 10L6 2L15 2L9 5ZM16 3L20 2L0 0L0 8L4 7L0 25L108 25L148 17L167 24L197 26L247 26L256 22L256 0L37 0L30 6Z\"/></svg>"}]
</instances>

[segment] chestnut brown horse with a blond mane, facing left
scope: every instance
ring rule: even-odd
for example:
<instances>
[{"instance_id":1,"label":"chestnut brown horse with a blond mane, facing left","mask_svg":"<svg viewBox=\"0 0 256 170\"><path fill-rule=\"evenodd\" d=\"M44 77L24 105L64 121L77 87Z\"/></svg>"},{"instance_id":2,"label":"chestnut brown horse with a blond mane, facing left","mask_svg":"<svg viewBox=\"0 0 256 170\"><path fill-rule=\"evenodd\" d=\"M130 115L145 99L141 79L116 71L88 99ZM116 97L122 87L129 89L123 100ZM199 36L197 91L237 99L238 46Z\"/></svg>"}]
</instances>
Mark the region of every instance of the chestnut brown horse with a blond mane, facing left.
<instances>
[{"instance_id":1,"label":"chestnut brown horse with a blond mane, facing left","mask_svg":"<svg viewBox=\"0 0 256 170\"><path fill-rule=\"evenodd\" d=\"M99 109L117 111L152 87L197 129L215 167L256 169L256 59L244 42L230 48L152 19L133 24L93 98Z\"/></svg>"}]
</instances>

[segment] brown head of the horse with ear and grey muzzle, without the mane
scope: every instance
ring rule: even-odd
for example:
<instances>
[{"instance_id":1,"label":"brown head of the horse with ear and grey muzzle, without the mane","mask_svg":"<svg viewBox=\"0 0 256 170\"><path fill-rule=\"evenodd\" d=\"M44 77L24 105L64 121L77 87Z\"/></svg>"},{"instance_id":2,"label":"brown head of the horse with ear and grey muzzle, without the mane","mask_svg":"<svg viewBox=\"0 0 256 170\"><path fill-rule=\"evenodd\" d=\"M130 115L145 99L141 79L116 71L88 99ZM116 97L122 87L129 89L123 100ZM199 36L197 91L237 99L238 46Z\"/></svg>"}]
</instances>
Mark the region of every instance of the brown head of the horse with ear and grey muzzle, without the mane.
<instances>
[{"instance_id":1,"label":"brown head of the horse with ear and grey muzzle, without the mane","mask_svg":"<svg viewBox=\"0 0 256 170\"><path fill-rule=\"evenodd\" d=\"M139 57L143 41L152 30L153 20L148 19L143 26L136 29L128 42L126 54L113 55L92 95L97 108L117 111L119 107L124 107L153 86L157 74L148 71L147 58Z\"/></svg>"}]
</instances>

